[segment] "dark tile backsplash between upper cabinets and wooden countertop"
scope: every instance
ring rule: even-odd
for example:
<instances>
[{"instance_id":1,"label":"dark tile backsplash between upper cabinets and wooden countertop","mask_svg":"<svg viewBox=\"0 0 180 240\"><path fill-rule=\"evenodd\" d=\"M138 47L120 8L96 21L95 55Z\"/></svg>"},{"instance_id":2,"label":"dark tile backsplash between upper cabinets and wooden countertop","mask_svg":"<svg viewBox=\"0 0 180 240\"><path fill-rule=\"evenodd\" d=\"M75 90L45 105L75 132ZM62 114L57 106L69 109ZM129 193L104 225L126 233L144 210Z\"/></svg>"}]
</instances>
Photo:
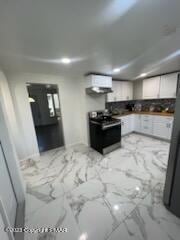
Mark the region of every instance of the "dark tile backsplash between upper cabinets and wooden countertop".
<instances>
[{"instance_id":1,"label":"dark tile backsplash between upper cabinets and wooden countertop","mask_svg":"<svg viewBox=\"0 0 180 240\"><path fill-rule=\"evenodd\" d=\"M106 103L106 108L111 112L123 112L134 109L141 111L169 111L174 112L176 99L148 99L148 100L131 100L122 102Z\"/></svg>"}]
</instances>

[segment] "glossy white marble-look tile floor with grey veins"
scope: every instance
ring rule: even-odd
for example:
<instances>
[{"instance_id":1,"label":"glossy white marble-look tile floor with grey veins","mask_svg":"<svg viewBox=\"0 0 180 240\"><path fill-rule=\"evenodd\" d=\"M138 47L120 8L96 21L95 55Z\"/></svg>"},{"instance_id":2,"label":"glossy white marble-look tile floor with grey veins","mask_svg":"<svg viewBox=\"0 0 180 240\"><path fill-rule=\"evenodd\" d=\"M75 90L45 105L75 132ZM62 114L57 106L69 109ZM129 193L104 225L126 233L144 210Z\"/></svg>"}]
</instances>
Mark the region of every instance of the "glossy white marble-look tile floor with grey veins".
<instances>
[{"instance_id":1,"label":"glossy white marble-look tile floor with grey veins","mask_svg":"<svg viewBox=\"0 0 180 240\"><path fill-rule=\"evenodd\" d=\"M180 219L162 203L168 153L167 142L131 134L104 157L78 145L22 163L26 226L68 229L25 240L179 240Z\"/></svg>"}]
</instances>

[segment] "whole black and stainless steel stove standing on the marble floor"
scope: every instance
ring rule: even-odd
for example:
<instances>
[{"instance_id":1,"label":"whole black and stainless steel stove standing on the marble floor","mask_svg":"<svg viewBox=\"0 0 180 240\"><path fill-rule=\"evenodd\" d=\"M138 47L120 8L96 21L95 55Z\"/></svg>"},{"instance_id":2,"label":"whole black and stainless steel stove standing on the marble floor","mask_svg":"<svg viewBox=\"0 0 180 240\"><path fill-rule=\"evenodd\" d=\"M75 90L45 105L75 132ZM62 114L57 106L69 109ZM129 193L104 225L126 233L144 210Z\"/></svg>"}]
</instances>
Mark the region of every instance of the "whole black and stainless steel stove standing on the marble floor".
<instances>
[{"instance_id":1,"label":"whole black and stainless steel stove standing on the marble floor","mask_svg":"<svg viewBox=\"0 0 180 240\"><path fill-rule=\"evenodd\" d=\"M121 146L121 120L106 111L89 113L90 146L107 154Z\"/></svg>"}]
</instances>

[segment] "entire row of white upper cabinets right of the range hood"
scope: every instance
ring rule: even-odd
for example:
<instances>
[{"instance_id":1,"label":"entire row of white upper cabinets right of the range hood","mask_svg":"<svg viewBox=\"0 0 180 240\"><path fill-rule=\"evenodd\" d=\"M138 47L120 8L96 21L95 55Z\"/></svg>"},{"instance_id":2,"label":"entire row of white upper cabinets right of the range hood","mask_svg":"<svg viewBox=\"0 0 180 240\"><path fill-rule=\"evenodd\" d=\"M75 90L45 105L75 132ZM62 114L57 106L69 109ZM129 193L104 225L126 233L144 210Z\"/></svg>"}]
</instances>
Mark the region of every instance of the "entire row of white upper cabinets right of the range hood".
<instances>
[{"instance_id":1,"label":"entire row of white upper cabinets right of the range hood","mask_svg":"<svg viewBox=\"0 0 180 240\"><path fill-rule=\"evenodd\" d=\"M113 93L107 95L107 102L127 101L133 99L176 98L178 74L167 74L144 79L136 86L131 81L112 81Z\"/></svg>"}]
</instances>

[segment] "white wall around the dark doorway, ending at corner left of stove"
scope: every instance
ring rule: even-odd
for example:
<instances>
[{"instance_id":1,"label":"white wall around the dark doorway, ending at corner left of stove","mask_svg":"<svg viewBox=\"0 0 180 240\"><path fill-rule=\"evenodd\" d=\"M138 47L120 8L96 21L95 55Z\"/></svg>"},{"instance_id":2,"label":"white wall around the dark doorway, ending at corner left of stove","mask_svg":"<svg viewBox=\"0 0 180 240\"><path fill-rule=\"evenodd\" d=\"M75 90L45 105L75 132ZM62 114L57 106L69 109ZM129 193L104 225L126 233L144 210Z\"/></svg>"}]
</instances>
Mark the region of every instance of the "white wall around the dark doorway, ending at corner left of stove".
<instances>
[{"instance_id":1,"label":"white wall around the dark doorway, ending at corner left of stove","mask_svg":"<svg viewBox=\"0 0 180 240\"><path fill-rule=\"evenodd\" d=\"M15 107L21 134L16 135L16 141L21 142L18 149L20 159L39 154L37 139L28 102L26 83L57 84L60 93L61 112L64 129L65 145L82 142L80 125L80 81L65 79L60 76L40 75L30 73L7 74L11 95Z\"/></svg>"}]
</instances>

